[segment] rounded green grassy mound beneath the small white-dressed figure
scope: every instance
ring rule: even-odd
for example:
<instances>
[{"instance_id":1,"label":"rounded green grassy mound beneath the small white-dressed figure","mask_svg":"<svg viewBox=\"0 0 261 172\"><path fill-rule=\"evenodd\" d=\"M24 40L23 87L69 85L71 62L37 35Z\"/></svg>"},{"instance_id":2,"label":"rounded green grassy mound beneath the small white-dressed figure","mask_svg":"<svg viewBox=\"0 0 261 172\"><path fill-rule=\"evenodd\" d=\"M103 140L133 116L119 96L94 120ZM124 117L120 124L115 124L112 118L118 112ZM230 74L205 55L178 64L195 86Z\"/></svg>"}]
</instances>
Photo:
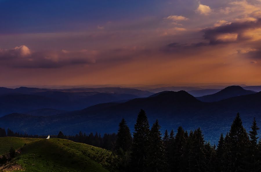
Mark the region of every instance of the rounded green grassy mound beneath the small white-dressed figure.
<instances>
[{"instance_id":1,"label":"rounded green grassy mound beneath the small white-dressed figure","mask_svg":"<svg viewBox=\"0 0 261 172\"><path fill-rule=\"evenodd\" d=\"M35 172L116 171L117 156L111 151L88 144L51 138L24 145L21 147L21 153L18 153L10 164Z\"/></svg>"}]
</instances>

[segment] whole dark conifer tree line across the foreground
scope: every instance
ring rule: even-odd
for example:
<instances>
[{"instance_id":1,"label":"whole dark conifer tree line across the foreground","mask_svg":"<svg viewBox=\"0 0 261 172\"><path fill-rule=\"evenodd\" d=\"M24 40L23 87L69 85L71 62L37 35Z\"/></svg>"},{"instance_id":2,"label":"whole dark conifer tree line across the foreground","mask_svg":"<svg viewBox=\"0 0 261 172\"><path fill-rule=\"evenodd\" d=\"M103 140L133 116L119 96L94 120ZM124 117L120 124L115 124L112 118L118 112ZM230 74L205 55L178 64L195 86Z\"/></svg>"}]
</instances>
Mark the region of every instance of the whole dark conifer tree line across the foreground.
<instances>
[{"instance_id":1,"label":"whole dark conifer tree line across the foreground","mask_svg":"<svg viewBox=\"0 0 261 172\"><path fill-rule=\"evenodd\" d=\"M152 127L144 110L140 110L133 135L124 119L119 123L117 134L86 135L81 131L75 136L66 136L61 131L57 138L86 143L112 150L119 156L121 171L261 171L261 140L258 141L255 118L247 133L239 113L226 135L220 135L218 145L204 140L202 130L165 131L163 136L159 121ZM0 128L1 136L16 136L8 129ZM19 135L23 136L23 135ZM17 137L19 137L17 136ZM28 135L25 135L28 136ZM37 135L30 137L39 137Z\"/></svg>"}]
</instances>

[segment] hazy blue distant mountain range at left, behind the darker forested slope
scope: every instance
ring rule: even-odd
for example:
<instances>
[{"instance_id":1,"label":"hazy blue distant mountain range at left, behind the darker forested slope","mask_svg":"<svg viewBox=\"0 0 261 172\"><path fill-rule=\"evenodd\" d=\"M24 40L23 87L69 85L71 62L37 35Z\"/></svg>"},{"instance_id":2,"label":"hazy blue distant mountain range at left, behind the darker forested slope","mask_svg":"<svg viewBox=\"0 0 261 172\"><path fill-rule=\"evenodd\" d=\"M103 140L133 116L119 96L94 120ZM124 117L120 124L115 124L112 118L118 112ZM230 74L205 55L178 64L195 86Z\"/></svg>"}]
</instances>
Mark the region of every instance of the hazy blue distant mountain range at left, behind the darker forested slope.
<instances>
[{"instance_id":1,"label":"hazy blue distant mountain range at left, behind the darker forested slope","mask_svg":"<svg viewBox=\"0 0 261 172\"><path fill-rule=\"evenodd\" d=\"M10 113L26 113L37 109L74 111L99 103L125 102L133 98L148 97L152 94L148 91L119 87L79 89L28 87L10 89L0 87L0 116ZM50 112L50 115L52 114ZM48 116L48 114L43 115Z\"/></svg>"}]
</instances>

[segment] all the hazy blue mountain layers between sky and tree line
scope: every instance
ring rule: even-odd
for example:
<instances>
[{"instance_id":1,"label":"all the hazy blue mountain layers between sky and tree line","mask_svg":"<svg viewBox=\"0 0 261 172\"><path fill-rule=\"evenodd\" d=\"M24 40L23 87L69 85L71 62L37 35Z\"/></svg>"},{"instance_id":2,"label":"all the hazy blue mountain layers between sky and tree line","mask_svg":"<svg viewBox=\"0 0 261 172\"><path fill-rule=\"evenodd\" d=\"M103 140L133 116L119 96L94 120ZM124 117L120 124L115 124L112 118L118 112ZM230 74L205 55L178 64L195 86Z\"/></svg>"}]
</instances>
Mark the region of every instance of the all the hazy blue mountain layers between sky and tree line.
<instances>
[{"instance_id":1,"label":"all the hazy blue mountain layers between sky and tree line","mask_svg":"<svg viewBox=\"0 0 261 172\"><path fill-rule=\"evenodd\" d=\"M150 92L152 90L119 87L1 87L0 111L5 116L0 118L0 127L39 135L57 134L60 130L66 135L75 135L80 130L86 133L112 133L117 131L121 118L125 118L133 130L139 109L144 109L150 125L158 119L162 131L176 131L180 125L186 130L201 127L205 140L214 144L221 133L229 131L237 112L247 131L253 117L261 126L261 92L256 92L260 86L247 87L252 90L244 88L231 86L222 90L190 90L194 88L186 87L187 92L165 90L154 94ZM213 94L206 95L209 92Z\"/></svg>"}]
</instances>

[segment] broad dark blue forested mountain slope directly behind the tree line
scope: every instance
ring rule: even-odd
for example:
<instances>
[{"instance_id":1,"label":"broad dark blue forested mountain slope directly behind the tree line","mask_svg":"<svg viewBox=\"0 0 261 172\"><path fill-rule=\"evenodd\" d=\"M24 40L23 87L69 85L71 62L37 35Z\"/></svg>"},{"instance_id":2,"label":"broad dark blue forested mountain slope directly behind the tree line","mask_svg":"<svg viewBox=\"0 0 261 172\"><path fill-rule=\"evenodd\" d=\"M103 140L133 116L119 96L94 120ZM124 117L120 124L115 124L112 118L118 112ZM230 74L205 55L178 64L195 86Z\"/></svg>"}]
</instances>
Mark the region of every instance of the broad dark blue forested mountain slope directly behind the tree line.
<instances>
[{"instance_id":1,"label":"broad dark blue forested mountain slope directly behind the tree line","mask_svg":"<svg viewBox=\"0 0 261 172\"><path fill-rule=\"evenodd\" d=\"M237 112L243 125L250 129L255 116L261 126L261 92L229 98L218 102L201 102L185 91L163 92L148 98L137 98L125 103L105 103L81 111L48 117L26 114L10 114L0 118L0 126L28 134L75 135L80 130L86 133L112 133L118 129L121 118L125 118L133 131L137 114L144 109L150 125L159 120L162 131L176 130L178 126L187 130L201 127L206 140L217 143L221 133L229 131Z\"/></svg>"}]
</instances>

